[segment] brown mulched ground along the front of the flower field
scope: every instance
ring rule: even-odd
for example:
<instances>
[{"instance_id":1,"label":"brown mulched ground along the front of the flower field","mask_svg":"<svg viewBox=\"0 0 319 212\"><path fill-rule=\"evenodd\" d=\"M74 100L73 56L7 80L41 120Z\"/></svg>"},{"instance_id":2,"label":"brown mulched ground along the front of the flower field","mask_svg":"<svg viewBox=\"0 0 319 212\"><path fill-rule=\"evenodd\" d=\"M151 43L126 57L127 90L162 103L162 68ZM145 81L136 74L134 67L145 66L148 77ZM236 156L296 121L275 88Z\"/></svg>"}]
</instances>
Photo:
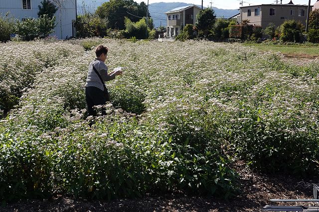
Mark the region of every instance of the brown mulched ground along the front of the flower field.
<instances>
[{"instance_id":1,"label":"brown mulched ground along the front of the flower field","mask_svg":"<svg viewBox=\"0 0 319 212\"><path fill-rule=\"evenodd\" d=\"M242 193L229 202L189 196L182 192L112 202L57 196L52 200L28 200L8 204L7 207L0 208L0 212L257 212L266 205L281 205L271 203L270 199L313 199L312 186L306 186L313 182L309 179L256 173L241 162L234 164L233 168L239 173ZM315 203L302 205L319 207L319 204Z\"/></svg>"}]
</instances>

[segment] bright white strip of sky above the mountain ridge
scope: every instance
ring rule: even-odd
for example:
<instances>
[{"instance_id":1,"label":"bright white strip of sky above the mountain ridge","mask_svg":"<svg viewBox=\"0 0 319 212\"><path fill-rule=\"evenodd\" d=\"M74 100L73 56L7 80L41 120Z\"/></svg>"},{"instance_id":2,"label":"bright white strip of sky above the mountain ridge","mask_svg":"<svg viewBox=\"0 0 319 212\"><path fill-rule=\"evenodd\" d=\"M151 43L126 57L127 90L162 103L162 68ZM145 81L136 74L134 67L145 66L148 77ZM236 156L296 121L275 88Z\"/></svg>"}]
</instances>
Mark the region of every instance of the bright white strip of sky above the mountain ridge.
<instances>
[{"instance_id":1,"label":"bright white strip of sky above the mountain ridge","mask_svg":"<svg viewBox=\"0 0 319 212\"><path fill-rule=\"evenodd\" d=\"M144 1L147 3L147 0L135 0L136 2ZM289 3L290 0L283 0L283 3ZM311 5L317 0L311 0ZM201 0L149 0L149 3L156 2L185 2L201 5ZM203 0L204 6L210 6L211 0ZM220 9L238 9L241 0L212 0L212 6ZM280 3L280 0L278 0ZM308 5L309 0L293 0L294 4L306 4ZM256 5L256 4L270 4L276 3L276 0L243 0L243 6Z\"/></svg>"}]
</instances>

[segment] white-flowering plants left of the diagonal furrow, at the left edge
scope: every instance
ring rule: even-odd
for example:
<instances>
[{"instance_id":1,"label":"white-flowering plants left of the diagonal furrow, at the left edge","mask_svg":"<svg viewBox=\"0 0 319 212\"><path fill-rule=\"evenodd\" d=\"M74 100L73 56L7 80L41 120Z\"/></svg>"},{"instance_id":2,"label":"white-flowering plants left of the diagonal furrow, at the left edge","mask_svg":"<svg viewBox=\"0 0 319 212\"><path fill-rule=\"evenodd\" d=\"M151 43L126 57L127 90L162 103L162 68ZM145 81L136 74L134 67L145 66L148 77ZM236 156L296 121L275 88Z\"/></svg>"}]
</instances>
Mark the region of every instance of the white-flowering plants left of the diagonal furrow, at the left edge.
<instances>
[{"instance_id":1,"label":"white-flowering plants left of the diagonal furrow, at the left edge","mask_svg":"<svg viewBox=\"0 0 319 212\"><path fill-rule=\"evenodd\" d=\"M37 41L1 44L0 109L6 113L16 105L23 92L32 86L34 77L39 72L65 60L70 60L82 52L79 46L63 42ZM51 81L52 79L44 78L43 80Z\"/></svg>"}]
</instances>

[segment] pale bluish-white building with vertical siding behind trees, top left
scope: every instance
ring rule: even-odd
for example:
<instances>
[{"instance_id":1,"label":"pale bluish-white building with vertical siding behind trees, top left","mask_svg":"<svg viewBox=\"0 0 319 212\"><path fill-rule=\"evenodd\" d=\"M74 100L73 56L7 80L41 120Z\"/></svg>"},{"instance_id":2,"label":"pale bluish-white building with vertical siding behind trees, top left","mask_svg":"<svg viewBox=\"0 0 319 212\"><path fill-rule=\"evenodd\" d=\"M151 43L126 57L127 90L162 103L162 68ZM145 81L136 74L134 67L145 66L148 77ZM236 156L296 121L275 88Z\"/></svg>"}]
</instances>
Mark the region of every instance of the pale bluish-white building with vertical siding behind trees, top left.
<instances>
[{"instance_id":1,"label":"pale bluish-white building with vertical siding behind trees, top left","mask_svg":"<svg viewBox=\"0 0 319 212\"><path fill-rule=\"evenodd\" d=\"M19 20L24 18L38 18L38 5L42 0L0 0L0 15L4 16L9 13L9 16L13 16ZM61 0L59 0L61 1ZM65 39L66 36L75 36L74 21L76 18L76 0L63 0L63 6L61 7L61 20L62 20L62 36L60 30L60 12L59 9L55 12L56 26L54 32L50 35L55 35L59 39Z\"/></svg>"}]
</instances>

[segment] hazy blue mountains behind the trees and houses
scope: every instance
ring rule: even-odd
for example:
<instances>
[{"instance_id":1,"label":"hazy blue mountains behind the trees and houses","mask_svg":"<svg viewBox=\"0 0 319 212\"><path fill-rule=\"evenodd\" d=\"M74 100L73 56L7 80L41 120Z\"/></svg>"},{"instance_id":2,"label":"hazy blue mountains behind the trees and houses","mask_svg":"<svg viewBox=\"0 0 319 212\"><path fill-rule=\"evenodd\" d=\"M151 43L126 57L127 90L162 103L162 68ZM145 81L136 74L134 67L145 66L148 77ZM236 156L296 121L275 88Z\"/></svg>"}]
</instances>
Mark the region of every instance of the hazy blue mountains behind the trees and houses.
<instances>
[{"instance_id":1,"label":"hazy blue mountains behind the trees and houses","mask_svg":"<svg viewBox=\"0 0 319 212\"><path fill-rule=\"evenodd\" d=\"M77 8L78 13L83 13L84 9L89 12L94 12L96 8L102 3L108 0L82 0L78 1ZM184 3L184 2L158 2L158 3L151 3L149 4L149 11L151 17L153 18L153 22L155 27L159 26L166 26L166 14L165 12L180 6L187 6L192 5L191 3ZM201 5L197 5L201 7ZM217 17L231 17L239 11L237 9L219 9L217 7L212 7L215 11Z\"/></svg>"}]
</instances>

